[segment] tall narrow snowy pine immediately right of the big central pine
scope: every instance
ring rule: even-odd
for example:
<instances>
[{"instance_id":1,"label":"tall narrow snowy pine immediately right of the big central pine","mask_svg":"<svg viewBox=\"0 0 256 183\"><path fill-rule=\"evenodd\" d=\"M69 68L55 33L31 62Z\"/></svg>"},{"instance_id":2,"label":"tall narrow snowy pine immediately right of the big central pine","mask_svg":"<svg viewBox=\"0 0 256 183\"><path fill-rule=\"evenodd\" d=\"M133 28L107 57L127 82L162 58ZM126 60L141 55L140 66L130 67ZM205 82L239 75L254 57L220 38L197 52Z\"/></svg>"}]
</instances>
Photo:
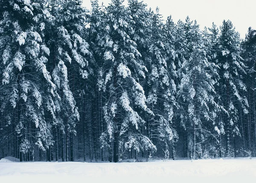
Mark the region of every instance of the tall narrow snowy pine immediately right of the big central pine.
<instances>
[{"instance_id":1,"label":"tall narrow snowy pine immediately right of the big central pine","mask_svg":"<svg viewBox=\"0 0 256 183\"><path fill-rule=\"evenodd\" d=\"M171 27L164 30L159 9L150 12L149 49L146 59L148 68L148 105L155 114L148 120L148 134L153 143L159 145L160 154L169 158L169 146L177 140L173 128L176 85L174 65L174 46L166 40L170 38ZM170 26L170 25L167 25ZM169 31L169 32L168 32ZM172 30L173 31L173 30ZM171 41L171 40L169 40Z\"/></svg>"}]
</instances>

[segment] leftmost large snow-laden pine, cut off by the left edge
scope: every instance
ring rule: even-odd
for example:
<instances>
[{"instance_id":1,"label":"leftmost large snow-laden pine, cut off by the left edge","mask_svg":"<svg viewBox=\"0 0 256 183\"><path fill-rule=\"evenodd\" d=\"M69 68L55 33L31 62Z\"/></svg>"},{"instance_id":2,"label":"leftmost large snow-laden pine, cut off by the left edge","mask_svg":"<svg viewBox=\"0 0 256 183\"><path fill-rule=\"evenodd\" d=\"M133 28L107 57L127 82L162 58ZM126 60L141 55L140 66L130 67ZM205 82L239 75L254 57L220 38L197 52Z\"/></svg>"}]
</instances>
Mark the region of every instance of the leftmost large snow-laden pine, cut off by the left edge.
<instances>
[{"instance_id":1,"label":"leftmost large snow-laden pine, cut off by the left edge","mask_svg":"<svg viewBox=\"0 0 256 183\"><path fill-rule=\"evenodd\" d=\"M46 69L49 49L42 40L50 15L44 0L1 0L0 4L1 113L8 125L15 126L16 157L31 160L35 145L42 150L52 145L55 84ZM51 120L46 118L48 112Z\"/></svg>"}]
</instances>

